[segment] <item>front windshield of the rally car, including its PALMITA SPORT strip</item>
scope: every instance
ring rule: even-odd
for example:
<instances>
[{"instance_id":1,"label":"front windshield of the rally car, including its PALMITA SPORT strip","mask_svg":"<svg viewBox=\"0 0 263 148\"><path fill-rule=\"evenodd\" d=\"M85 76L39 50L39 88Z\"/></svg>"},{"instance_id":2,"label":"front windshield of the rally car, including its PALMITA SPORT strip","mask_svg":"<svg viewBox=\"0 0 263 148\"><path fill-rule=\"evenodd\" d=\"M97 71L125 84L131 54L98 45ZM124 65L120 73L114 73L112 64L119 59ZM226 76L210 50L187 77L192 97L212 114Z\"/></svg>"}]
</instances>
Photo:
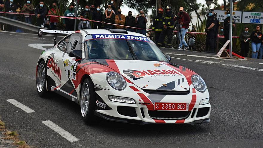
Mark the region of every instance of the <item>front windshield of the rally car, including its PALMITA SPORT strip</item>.
<instances>
[{"instance_id":1,"label":"front windshield of the rally car, including its PALMITA SPORT strip","mask_svg":"<svg viewBox=\"0 0 263 148\"><path fill-rule=\"evenodd\" d=\"M117 34L92 34L85 37L86 59L126 59L169 62L148 38Z\"/></svg>"}]
</instances>

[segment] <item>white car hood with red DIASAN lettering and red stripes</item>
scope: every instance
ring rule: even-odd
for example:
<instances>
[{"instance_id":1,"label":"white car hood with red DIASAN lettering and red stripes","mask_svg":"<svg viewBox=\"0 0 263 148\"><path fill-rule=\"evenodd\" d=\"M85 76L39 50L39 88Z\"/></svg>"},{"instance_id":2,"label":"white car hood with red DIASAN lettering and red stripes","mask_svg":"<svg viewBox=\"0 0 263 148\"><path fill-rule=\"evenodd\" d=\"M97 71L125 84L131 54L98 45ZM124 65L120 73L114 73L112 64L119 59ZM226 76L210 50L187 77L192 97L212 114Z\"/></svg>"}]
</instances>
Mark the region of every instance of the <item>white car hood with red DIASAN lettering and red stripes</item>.
<instances>
[{"instance_id":1,"label":"white car hood with red DIASAN lettering and red stripes","mask_svg":"<svg viewBox=\"0 0 263 148\"><path fill-rule=\"evenodd\" d=\"M122 74L136 86L147 90L187 91L189 83L177 65L139 60L96 60ZM190 76L191 77L191 76Z\"/></svg>"}]
</instances>

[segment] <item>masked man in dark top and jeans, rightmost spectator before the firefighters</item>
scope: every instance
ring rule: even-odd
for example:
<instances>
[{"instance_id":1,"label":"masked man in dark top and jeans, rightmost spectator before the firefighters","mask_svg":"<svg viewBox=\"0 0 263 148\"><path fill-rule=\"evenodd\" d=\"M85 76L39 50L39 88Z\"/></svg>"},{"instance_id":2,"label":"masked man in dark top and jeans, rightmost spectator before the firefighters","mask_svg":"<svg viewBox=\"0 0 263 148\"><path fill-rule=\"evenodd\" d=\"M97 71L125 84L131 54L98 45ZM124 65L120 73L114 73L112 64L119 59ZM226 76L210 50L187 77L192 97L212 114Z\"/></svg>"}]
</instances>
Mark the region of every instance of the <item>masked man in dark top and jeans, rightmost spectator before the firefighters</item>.
<instances>
[{"instance_id":1,"label":"masked man in dark top and jeans, rightmost spectator before the firefighters","mask_svg":"<svg viewBox=\"0 0 263 148\"><path fill-rule=\"evenodd\" d=\"M144 15L144 11L140 10L140 14L136 16L135 19L136 27L137 28L143 28L143 29L137 29L137 33L141 33L143 35L146 35L146 23L148 22L146 19L146 16Z\"/></svg>"}]
</instances>

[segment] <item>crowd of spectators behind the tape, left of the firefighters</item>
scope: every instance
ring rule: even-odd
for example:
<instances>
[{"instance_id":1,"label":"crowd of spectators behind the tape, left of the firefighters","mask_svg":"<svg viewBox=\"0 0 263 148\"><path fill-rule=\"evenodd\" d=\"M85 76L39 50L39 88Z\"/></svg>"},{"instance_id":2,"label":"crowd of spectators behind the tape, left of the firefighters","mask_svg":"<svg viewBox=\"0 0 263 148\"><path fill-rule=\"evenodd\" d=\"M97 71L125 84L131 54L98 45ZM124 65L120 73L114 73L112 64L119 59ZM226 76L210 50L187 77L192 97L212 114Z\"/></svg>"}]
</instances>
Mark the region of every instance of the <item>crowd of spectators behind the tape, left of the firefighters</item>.
<instances>
[{"instance_id":1,"label":"crowd of spectators behind the tape, left of the firefighters","mask_svg":"<svg viewBox=\"0 0 263 148\"><path fill-rule=\"evenodd\" d=\"M59 18L55 17L57 14L56 11L59 11L57 3L54 1L52 5L47 8L44 1L40 1L39 4L33 5L33 0L27 0L26 3L21 6L19 3L14 3L14 0L0 0L0 11L5 12L14 12L14 13L30 13L34 15L18 15L18 14L5 14L10 19L21 20L23 22L32 23L32 20L35 19L35 25L40 26L42 28L48 29L62 29L58 27ZM136 16L132 16L132 11L129 11L128 16L122 14L121 9L116 9L116 1L111 0L105 11L102 11L100 6L95 7L92 5L86 5L81 13L76 17L81 17L84 19L99 21L86 21L86 20L78 20L77 29L106 29L106 28L116 28L116 29L126 29L127 31L138 32L146 35L146 23L147 19L144 15L143 10L140 11L140 14ZM4 14L0 14L4 16ZM49 16L47 16L49 15ZM54 16L52 16L54 15ZM75 5L71 3L63 14L66 17L75 17ZM102 23L100 23L102 22ZM105 22L105 23L104 23ZM111 24L107 24L111 23ZM115 25L114 25L115 24ZM62 19L62 26L65 30L74 30L75 19ZM143 29L134 29L119 25L125 25L130 27L137 27ZM2 29L2 26L0 26ZM13 29L12 29L13 30ZM15 30L13 30L15 31Z\"/></svg>"}]
</instances>

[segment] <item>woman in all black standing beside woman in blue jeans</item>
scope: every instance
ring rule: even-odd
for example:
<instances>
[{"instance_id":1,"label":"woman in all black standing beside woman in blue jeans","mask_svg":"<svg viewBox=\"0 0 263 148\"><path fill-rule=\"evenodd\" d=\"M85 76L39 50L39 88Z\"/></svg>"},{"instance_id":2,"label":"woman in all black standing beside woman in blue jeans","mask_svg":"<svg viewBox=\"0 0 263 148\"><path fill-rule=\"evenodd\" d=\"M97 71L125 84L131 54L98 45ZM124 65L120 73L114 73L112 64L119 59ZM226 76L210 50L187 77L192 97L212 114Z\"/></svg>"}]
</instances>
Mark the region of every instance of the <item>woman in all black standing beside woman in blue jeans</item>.
<instances>
[{"instance_id":1,"label":"woman in all black standing beside woman in blue jeans","mask_svg":"<svg viewBox=\"0 0 263 148\"><path fill-rule=\"evenodd\" d=\"M249 52L249 42L250 34L248 33L248 27L245 27L244 31L240 34L240 54L242 57L247 57L247 53Z\"/></svg>"}]
</instances>

